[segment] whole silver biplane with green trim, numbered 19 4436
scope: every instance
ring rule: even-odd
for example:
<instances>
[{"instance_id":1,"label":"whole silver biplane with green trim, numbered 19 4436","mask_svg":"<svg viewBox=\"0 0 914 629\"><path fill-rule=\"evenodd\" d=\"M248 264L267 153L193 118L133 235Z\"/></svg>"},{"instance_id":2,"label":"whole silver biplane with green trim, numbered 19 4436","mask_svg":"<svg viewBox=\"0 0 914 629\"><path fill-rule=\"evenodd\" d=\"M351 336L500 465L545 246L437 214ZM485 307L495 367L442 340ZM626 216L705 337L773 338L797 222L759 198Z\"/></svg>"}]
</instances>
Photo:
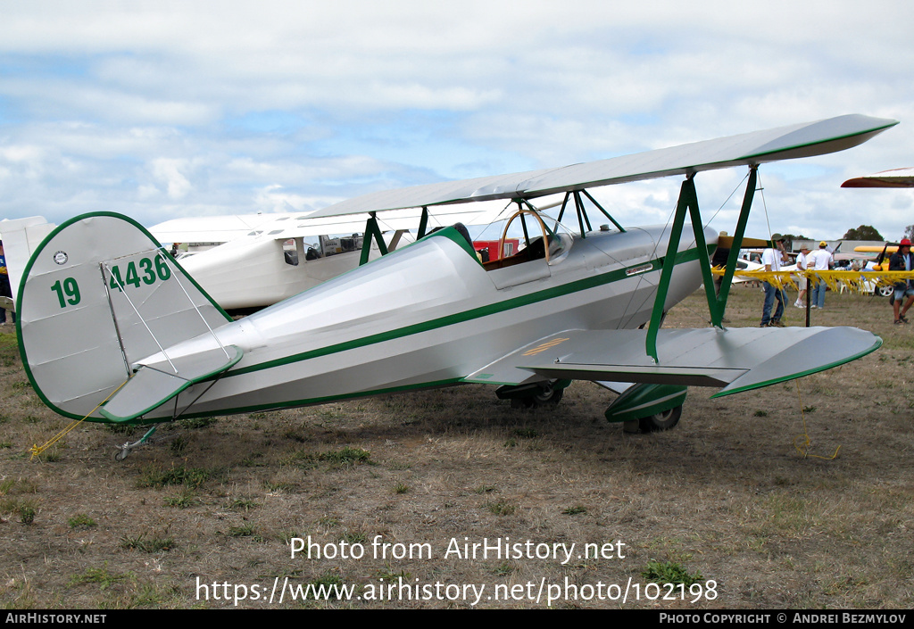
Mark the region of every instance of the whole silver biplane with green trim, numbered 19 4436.
<instances>
[{"instance_id":1,"label":"whole silver biplane with green trim, numbered 19 4436","mask_svg":"<svg viewBox=\"0 0 914 629\"><path fill-rule=\"evenodd\" d=\"M238 321L132 219L80 216L28 263L18 298L23 363L40 398L77 420L154 424L468 382L533 405L586 379L622 391L609 421L663 430L678 421L687 387L722 388L717 396L756 389L881 345L857 328L726 329L722 320L759 165L844 150L895 124L849 115L356 197L312 217L367 214L367 251L380 239L378 215L421 208L416 241L381 247L377 260ZM717 294L717 233L701 227L696 174L740 165L749 181ZM588 192L675 175L685 180L665 227L622 227ZM532 205L553 194L564 194L558 219ZM526 247L515 255L483 262L462 225L428 229L439 206L494 199L515 204L502 233L523 229ZM570 231L559 229L566 217ZM665 312L702 283L713 325L661 329Z\"/></svg>"}]
</instances>

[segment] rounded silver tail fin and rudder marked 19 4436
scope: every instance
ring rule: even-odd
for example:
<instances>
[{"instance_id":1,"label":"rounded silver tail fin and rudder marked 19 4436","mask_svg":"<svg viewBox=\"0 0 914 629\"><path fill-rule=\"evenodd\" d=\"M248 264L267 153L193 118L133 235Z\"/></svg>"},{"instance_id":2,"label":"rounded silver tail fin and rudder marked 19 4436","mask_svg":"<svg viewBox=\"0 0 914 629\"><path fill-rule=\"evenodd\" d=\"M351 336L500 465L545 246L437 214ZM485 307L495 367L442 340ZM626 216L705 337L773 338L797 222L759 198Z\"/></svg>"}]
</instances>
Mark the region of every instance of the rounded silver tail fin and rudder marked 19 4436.
<instances>
[{"instance_id":1,"label":"rounded silver tail fin and rudder marked 19 4436","mask_svg":"<svg viewBox=\"0 0 914 629\"><path fill-rule=\"evenodd\" d=\"M146 229L109 212L52 231L17 302L19 350L39 397L96 421L138 360L231 321Z\"/></svg>"}]
</instances>

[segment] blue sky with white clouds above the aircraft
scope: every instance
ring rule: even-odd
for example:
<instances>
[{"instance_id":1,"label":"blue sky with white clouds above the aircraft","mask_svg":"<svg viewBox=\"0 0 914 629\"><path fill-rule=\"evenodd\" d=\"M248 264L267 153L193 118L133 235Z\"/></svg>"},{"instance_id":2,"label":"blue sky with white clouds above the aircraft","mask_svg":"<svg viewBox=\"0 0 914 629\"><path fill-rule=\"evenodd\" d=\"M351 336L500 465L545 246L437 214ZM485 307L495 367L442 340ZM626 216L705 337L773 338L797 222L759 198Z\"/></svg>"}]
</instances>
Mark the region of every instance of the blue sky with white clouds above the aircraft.
<instances>
[{"instance_id":1,"label":"blue sky with white clouds above the aircraft","mask_svg":"<svg viewBox=\"0 0 914 629\"><path fill-rule=\"evenodd\" d=\"M0 0L0 219L303 211L864 113L901 124L763 166L751 235L898 239L914 191L840 188L914 165L914 3L864 6ZM744 176L696 178L715 229ZM678 185L595 196L657 223Z\"/></svg>"}]
</instances>

